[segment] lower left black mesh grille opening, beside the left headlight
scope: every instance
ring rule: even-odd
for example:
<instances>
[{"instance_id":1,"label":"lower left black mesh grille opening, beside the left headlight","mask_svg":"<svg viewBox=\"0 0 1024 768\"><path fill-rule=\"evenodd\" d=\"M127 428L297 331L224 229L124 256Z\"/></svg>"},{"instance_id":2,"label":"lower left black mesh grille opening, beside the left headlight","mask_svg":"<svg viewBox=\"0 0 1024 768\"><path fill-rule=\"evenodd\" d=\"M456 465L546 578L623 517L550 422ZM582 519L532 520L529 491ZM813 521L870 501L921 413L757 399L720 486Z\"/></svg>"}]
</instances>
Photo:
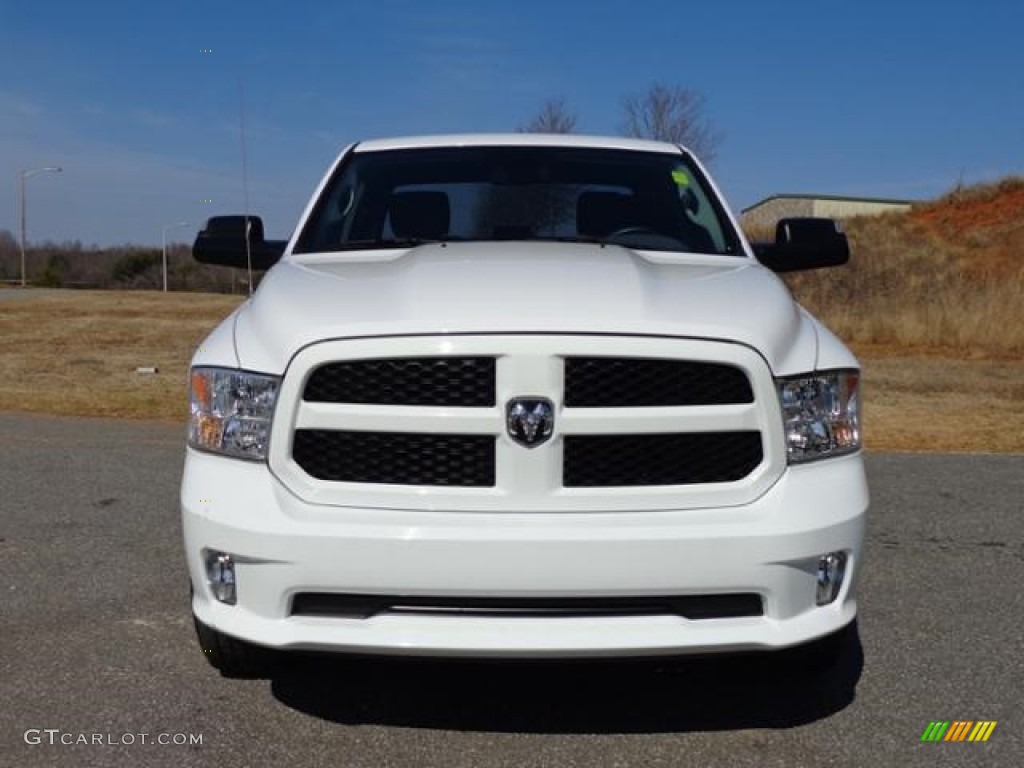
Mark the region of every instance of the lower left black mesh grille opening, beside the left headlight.
<instances>
[{"instance_id":1,"label":"lower left black mesh grille opening, beside the left headlight","mask_svg":"<svg viewBox=\"0 0 1024 768\"><path fill-rule=\"evenodd\" d=\"M495 484L493 435L298 429L292 456L318 480L474 487Z\"/></svg>"}]
</instances>

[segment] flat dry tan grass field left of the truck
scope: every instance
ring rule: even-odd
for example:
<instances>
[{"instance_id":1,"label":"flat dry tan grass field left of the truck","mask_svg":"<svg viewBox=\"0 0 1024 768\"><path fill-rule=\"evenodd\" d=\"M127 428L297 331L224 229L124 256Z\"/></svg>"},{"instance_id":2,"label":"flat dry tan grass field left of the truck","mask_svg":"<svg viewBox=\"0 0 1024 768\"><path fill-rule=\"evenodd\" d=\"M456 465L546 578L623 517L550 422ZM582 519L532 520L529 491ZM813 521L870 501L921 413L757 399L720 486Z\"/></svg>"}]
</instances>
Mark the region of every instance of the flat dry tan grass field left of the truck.
<instances>
[{"instance_id":1,"label":"flat dry tan grass field left of the truck","mask_svg":"<svg viewBox=\"0 0 1024 768\"><path fill-rule=\"evenodd\" d=\"M0 411L183 422L193 351L240 302L155 291L0 301Z\"/></svg>"}]
</instances>

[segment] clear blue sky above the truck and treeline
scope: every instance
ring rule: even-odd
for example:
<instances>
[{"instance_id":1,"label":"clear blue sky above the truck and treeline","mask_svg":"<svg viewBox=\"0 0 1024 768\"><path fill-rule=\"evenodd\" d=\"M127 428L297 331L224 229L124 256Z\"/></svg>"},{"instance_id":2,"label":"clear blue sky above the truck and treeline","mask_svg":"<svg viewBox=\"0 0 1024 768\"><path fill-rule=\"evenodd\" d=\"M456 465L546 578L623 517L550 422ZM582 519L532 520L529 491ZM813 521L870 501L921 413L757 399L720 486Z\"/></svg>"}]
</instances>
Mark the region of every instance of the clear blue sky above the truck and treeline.
<instances>
[{"instance_id":1,"label":"clear blue sky above the truck and treeline","mask_svg":"<svg viewBox=\"0 0 1024 768\"><path fill-rule=\"evenodd\" d=\"M703 95L736 211L929 198L1024 173L1022 30L1021 0L0 0L0 229L17 231L17 172L48 165L30 241L159 244L181 220L169 237L189 241L241 212L240 83L272 237L350 141L511 130L548 98L614 134L654 82Z\"/></svg>"}]
</instances>

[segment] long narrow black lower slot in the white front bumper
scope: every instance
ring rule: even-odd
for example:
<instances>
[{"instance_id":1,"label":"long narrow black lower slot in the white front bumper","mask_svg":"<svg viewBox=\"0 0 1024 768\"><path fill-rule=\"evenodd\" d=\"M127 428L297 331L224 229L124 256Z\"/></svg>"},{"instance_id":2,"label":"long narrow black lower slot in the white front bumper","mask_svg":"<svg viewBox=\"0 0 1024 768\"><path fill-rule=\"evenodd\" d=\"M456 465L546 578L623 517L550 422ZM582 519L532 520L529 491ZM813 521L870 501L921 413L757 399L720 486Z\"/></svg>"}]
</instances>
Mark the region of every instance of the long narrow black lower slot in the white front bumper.
<instances>
[{"instance_id":1,"label":"long narrow black lower slot in the white front bumper","mask_svg":"<svg viewBox=\"0 0 1024 768\"><path fill-rule=\"evenodd\" d=\"M615 615L678 615L686 618L760 616L760 595L667 595L643 597L429 597L301 592L292 615L370 618L380 613L555 618Z\"/></svg>"}]
</instances>

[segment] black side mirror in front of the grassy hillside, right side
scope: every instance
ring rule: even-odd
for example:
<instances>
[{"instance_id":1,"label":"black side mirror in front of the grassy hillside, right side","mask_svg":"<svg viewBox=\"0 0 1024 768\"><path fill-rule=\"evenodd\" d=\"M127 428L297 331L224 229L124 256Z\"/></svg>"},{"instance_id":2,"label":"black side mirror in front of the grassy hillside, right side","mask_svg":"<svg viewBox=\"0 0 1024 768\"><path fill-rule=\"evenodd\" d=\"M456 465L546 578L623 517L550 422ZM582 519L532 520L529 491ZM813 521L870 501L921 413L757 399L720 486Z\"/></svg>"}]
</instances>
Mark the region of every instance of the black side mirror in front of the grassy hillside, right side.
<instances>
[{"instance_id":1,"label":"black side mirror in front of the grassy hillside, right side","mask_svg":"<svg viewBox=\"0 0 1024 768\"><path fill-rule=\"evenodd\" d=\"M840 266L850 260L850 243L834 219L780 219L774 243L755 243L758 261L776 272Z\"/></svg>"}]
</instances>

